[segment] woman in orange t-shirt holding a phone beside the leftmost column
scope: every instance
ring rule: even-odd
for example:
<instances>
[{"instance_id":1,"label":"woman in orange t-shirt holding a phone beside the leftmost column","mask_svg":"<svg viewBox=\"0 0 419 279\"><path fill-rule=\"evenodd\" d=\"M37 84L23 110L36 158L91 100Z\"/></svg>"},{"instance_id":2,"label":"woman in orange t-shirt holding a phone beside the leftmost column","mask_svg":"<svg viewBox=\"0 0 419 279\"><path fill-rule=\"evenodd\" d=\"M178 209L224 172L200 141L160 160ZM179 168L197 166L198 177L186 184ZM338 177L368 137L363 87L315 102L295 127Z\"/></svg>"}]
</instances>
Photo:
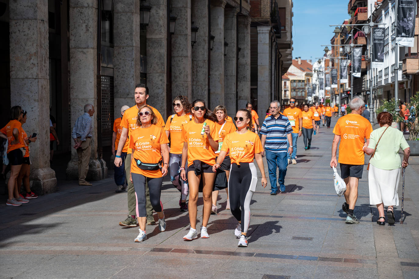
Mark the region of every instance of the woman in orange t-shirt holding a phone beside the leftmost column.
<instances>
[{"instance_id":1,"label":"woman in orange t-shirt holding a phone beside the leftmost column","mask_svg":"<svg viewBox=\"0 0 419 279\"><path fill-rule=\"evenodd\" d=\"M26 115L26 111L23 111L23 117L21 119L21 123L22 125L26 123L26 119L27 119L27 115ZM38 198L38 196L31 191L31 187L30 187L30 183L29 183L29 173L31 172L31 160L29 159L29 143L31 142L35 142L36 141L36 137L32 138L32 136L29 136L26 134L26 132L22 129L21 133L20 133L21 138L23 139L23 142L25 143L25 149L26 149L26 153L23 156L23 161L22 161L22 167L21 167L21 171L19 172L19 176L17 178L17 183L18 183L18 192L19 192L19 196L21 196L21 198L25 198L25 199L31 199L31 198ZM25 190L26 190L26 194L25 196L23 196L21 194L21 185L22 185L22 180L23 180L23 186L25 186Z\"/></svg>"}]
</instances>

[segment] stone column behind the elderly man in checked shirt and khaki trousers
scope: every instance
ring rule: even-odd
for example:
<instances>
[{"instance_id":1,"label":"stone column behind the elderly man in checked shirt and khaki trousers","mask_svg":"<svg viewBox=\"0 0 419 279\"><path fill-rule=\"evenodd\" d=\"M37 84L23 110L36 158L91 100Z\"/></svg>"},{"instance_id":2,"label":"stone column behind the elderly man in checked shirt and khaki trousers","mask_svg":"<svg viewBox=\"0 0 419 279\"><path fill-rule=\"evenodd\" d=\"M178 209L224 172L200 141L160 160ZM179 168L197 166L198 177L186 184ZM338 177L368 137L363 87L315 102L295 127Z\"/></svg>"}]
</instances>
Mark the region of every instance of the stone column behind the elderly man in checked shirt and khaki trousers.
<instances>
[{"instance_id":1,"label":"stone column behind the elderly man in checked shirt and khaki trousers","mask_svg":"<svg viewBox=\"0 0 419 279\"><path fill-rule=\"evenodd\" d=\"M98 2L96 0L70 0L70 111L71 130L77 118L84 113L85 104L97 108L97 27ZM98 159L97 115L92 117L93 137L89 171L86 180L107 177L103 159ZM71 131L70 130L70 131ZM74 141L71 140L74 146ZM67 165L67 179L78 179L77 151L71 148L71 161Z\"/></svg>"}]
</instances>

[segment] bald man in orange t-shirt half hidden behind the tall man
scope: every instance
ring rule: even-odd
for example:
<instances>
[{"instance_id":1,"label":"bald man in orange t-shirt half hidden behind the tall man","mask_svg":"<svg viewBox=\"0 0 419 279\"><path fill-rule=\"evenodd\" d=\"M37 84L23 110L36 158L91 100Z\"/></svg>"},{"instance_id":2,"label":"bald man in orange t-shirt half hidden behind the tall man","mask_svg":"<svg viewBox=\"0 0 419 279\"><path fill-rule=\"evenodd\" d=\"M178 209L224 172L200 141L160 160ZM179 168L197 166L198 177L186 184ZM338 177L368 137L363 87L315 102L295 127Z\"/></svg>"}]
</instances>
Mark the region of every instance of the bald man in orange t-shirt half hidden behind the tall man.
<instances>
[{"instance_id":1,"label":"bald man in orange t-shirt half hidden behind the tall man","mask_svg":"<svg viewBox=\"0 0 419 279\"><path fill-rule=\"evenodd\" d=\"M121 115L124 116L124 112L128 110L128 106L121 107ZM118 149L119 138L121 138L122 126L121 126L122 117L118 117L114 121L114 129L112 133L112 154L115 155L116 150ZM121 193L125 190L125 183L127 181L127 175L125 174L125 157L127 156L128 151L128 141L125 142L124 148L121 152L122 165L120 167L115 166L114 180L116 183L116 193Z\"/></svg>"}]
</instances>

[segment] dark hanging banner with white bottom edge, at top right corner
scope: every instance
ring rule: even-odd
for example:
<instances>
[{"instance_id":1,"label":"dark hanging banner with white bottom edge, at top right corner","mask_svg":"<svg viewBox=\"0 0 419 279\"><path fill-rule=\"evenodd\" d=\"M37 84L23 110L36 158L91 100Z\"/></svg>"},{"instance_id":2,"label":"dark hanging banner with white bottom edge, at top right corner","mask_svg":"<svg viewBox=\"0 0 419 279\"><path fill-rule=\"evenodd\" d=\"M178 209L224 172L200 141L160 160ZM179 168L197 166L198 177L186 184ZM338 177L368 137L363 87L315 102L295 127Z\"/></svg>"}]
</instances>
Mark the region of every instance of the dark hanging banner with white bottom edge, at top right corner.
<instances>
[{"instance_id":1,"label":"dark hanging banner with white bottom edge, at top right corner","mask_svg":"<svg viewBox=\"0 0 419 279\"><path fill-rule=\"evenodd\" d=\"M414 46L416 0L398 0L396 18L396 44Z\"/></svg>"}]
</instances>

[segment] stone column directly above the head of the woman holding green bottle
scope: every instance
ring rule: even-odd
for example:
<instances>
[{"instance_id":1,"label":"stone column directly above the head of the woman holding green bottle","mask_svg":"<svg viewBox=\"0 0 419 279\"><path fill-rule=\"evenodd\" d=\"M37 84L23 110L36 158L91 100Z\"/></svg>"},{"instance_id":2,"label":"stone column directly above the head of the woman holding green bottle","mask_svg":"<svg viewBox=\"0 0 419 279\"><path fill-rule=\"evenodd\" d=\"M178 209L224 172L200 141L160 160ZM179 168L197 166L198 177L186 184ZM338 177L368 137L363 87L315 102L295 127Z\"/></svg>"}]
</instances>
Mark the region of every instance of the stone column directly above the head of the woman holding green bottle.
<instances>
[{"instance_id":1,"label":"stone column directly above the head of the woman holding green bottle","mask_svg":"<svg viewBox=\"0 0 419 279\"><path fill-rule=\"evenodd\" d=\"M192 98L208 103L208 1L192 2L192 20L199 27L197 42L192 48Z\"/></svg>"}]
</instances>

